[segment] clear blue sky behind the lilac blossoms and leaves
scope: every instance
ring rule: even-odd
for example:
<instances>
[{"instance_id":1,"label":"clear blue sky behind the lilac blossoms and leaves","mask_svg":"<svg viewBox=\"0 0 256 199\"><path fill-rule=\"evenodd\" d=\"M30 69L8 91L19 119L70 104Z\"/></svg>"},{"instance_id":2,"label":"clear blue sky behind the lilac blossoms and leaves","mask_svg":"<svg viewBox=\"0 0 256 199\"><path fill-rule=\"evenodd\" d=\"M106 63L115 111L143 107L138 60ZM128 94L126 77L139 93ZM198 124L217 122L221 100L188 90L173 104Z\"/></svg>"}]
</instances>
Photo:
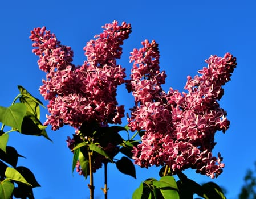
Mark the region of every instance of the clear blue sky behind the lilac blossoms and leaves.
<instances>
[{"instance_id":1,"label":"clear blue sky behind the lilac blossoms and leaves","mask_svg":"<svg viewBox=\"0 0 256 199\"><path fill-rule=\"evenodd\" d=\"M38 88L45 73L32 54L30 30L46 26L63 45L74 50L74 64L82 64L83 47L101 32L101 26L118 20L132 24L132 34L125 40L124 53L119 63L129 74L129 52L140 48L144 39L159 43L160 67L168 78L164 86L182 90L186 76L194 76L206 64L210 55L223 56L226 52L237 57L237 68L231 81L225 85L221 107L231 121L229 130L216 135L214 155L224 157L224 173L213 181L227 190L227 198L237 198L246 170L253 168L255 150L255 75L256 75L256 3L255 1L2 1L0 3L0 67L1 106L9 106L17 96L17 85L24 86L39 98ZM132 97L119 89L118 100L126 110L132 107ZM42 110L42 121L47 110ZM125 123L124 123L125 125ZM26 156L18 165L34 172L41 188L34 189L35 198L88 198L89 190L84 177L71 172L72 153L66 146L70 127L51 131L49 142L42 137L19 135L12 132L9 144ZM109 165L109 199L131 198L141 181L158 177L159 168L136 167L137 180L123 175ZM194 171L185 172L198 183L211 181ZM104 198L103 171L95 174L95 199Z\"/></svg>"}]
</instances>

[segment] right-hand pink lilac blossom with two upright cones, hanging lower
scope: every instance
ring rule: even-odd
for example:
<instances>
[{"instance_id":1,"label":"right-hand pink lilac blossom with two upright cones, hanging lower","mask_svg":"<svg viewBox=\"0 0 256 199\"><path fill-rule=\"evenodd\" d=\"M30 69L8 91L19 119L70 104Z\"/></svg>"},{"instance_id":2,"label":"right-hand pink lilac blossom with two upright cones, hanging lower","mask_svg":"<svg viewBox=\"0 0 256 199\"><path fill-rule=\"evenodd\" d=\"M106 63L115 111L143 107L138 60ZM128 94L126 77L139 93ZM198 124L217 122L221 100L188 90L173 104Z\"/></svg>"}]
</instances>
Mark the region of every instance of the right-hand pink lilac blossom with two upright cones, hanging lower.
<instances>
[{"instance_id":1,"label":"right-hand pink lilac blossom with two upright cones, hanging lower","mask_svg":"<svg viewBox=\"0 0 256 199\"><path fill-rule=\"evenodd\" d=\"M236 59L230 53L224 57L211 56L198 71L200 76L188 76L187 93L169 89L161 84L165 72L159 69L159 50L155 41L145 40L143 47L134 49L128 92L135 97L128 126L132 131L145 130L141 144L133 150L133 159L140 167L168 165L173 174L187 168L212 178L222 173L224 164L220 153L212 155L217 131L229 128L226 111L217 100L224 94L221 87L230 80Z\"/></svg>"}]
</instances>

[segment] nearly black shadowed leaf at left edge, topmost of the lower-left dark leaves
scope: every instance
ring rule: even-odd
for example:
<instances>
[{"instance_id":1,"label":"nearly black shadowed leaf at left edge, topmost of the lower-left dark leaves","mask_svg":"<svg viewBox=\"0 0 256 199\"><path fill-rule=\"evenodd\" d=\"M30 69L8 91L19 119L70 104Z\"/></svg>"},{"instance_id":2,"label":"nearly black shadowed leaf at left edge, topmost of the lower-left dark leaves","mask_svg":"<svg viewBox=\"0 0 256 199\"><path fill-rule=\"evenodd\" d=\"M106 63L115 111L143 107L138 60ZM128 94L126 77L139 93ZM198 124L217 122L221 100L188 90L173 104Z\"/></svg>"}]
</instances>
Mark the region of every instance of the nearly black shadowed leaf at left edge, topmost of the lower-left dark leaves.
<instances>
[{"instance_id":1,"label":"nearly black shadowed leaf at left edge, topmost of the lower-left dark leaves","mask_svg":"<svg viewBox=\"0 0 256 199\"><path fill-rule=\"evenodd\" d=\"M12 165L13 167L16 167L18 162L18 157L23 157L23 156L19 155L14 147L7 146L6 153L0 150L0 159Z\"/></svg>"}]
</instances>

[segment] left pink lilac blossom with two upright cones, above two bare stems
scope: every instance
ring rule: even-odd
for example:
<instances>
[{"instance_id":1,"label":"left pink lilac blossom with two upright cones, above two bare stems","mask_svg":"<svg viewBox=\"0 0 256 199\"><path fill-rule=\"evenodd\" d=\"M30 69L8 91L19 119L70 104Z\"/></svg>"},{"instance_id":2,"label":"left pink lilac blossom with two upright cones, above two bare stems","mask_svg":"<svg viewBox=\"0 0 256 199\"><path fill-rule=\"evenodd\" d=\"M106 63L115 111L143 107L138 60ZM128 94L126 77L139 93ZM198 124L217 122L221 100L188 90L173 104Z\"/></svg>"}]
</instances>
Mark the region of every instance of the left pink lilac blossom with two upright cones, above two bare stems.
<instances>
[{"instance_id":1,"label":"left pink lilac blossom with two upright cones, above two bare stems","mask_svg":"<svg viewBox=\"0 0 256 199\"><path fill-rule=\"evenodd\" d=\"M103 26L104 31L87 42L82 66L72 64L73 51L60 44L45 27L34 28L32 52L39 56L39 68L46 72L40 94L48 100L47 121L52 130L63 125L79 128L84 121L121 123L124 106L117 106L117 86L124 83L125 69L117 65L120 45L131 33L131 25L117 21Z\"/></svg>"}]
</instances>

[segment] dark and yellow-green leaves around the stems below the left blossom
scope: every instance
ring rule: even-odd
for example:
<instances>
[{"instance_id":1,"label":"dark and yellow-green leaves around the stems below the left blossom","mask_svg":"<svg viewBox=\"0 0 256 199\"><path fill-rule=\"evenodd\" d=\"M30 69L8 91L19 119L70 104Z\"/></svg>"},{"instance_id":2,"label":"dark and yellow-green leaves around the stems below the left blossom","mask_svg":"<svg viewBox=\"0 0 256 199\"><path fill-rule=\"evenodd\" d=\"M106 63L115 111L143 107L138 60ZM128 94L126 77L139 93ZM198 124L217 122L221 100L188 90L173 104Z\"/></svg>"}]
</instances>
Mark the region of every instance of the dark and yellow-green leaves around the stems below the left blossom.
<instances>
[{"instance_id":1,"label":"dark and yellow-green leaves around the stems below the left blossom","mask_svg":"<svg viewBox=\"0 0 256 199\"><path fill-rule=\"evenodd\" d=\"M133 140L125 141L120 136L120 131L127 131L128 133L128 128L121 126L100 127L97 122L84 122L79 128L78 135L73 135L75 147L72 150L74 151L72 171L74 171L76 163L79 160L83 175L87 178L89 175L88 153L91 153L92 162L100 155L102 156L103 163L115 163L120 172L136 178L135 166L129 158L132 158L131 150L133 146L136 146L139 142L134 142ZM107 151L108 144L111 144L110 147L113 147L110 153ZM113 161L119 152L122 152L127 157Z\"/></svg>"}]
</instances>

